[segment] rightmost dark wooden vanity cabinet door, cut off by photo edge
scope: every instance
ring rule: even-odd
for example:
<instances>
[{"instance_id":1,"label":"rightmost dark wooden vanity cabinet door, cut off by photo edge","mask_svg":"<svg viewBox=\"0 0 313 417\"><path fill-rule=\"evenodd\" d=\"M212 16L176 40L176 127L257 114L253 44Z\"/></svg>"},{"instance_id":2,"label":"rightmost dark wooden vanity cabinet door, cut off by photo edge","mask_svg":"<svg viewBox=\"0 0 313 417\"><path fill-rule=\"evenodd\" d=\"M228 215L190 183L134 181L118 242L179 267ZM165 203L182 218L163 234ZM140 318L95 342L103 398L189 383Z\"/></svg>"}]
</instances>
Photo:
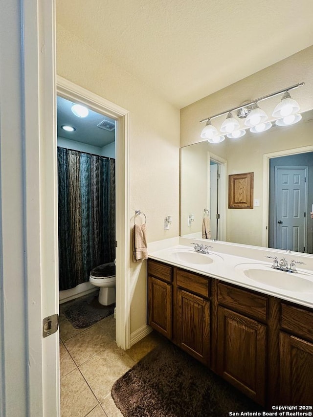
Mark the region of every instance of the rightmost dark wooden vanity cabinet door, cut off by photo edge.
<instances>
[{"instance_id":1,"label":"rightmost dark wooden vanity cabinet door, cut off by photo edge","mask_svg":"<svg viewBox=\"0 0 313 417\"><path fill-rule=\"evenodd\" d=\"M281 403L312 405L313 344L280 332Z\"/></svg>"}]
</instances>

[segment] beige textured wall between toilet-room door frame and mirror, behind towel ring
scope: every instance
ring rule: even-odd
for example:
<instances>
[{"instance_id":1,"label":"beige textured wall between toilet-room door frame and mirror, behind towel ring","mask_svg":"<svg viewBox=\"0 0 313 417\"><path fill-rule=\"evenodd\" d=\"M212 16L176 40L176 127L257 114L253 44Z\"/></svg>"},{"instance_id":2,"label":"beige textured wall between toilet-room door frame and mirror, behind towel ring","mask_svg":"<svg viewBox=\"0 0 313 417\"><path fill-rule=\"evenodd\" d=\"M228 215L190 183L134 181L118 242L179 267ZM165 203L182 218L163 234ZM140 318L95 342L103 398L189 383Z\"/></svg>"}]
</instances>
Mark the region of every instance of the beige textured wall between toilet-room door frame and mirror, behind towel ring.
<instances>
[{"instance_id":1,"label":"beige textured wall between toilet-room door frame and mirror, behind towel ring","mask_svg":"<svg viewBox=\"0 0 313 417\"><path fill-rule=\"evenodd\" d=\"M148 241L178 236L179 110L59 24L57 74L130 111L131 214L146 214ZM167 215L173 222L164 231ZM133 263L131 274L134 332L146 324L145 263Z\"/></svg>"}]
</instances>

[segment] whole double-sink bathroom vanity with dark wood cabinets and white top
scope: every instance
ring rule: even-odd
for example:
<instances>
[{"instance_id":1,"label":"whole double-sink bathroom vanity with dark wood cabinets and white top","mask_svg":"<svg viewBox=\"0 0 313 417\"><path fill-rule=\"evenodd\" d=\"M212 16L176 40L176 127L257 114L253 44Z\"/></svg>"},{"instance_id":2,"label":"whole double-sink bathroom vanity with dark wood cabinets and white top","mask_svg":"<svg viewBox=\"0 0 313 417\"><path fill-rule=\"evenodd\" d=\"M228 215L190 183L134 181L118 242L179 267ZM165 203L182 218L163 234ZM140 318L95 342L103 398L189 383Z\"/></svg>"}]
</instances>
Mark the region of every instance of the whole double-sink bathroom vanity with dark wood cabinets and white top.
<instances>
[{"instance_id":1,"label":"whole double-sink bathroom vanity with dark wood cabinets and white top","mask_svg":"<svg viewBox=\"0 0 313 417\"><path fill-rule=\"evenodd\" d=\"M149 255L148 324L257 403L312 406L313 275L303 272L309 286L295 302L296 291L251 284L234 266L256 265L266 277L270 263L215 252L206 264L193 253Z\"/></svg>"}]
</instances>

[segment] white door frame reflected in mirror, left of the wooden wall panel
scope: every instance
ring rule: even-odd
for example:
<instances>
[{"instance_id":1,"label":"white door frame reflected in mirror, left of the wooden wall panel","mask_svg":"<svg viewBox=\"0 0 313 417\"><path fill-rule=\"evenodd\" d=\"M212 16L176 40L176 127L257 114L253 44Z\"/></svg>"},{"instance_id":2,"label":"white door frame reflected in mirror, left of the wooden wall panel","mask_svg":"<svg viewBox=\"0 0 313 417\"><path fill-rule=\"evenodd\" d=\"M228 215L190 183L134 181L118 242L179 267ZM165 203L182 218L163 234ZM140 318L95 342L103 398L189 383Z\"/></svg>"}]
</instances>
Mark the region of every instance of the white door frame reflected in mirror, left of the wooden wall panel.
<instances>
[{"instance_id":1,"label":"white door frame reflected in mirror, left of the wooden wall panel","mask_svg":"<svg viewBox=\"0 0 313 417\"><path fill-rule=\"evenodd\" d=\"M228 196L227 191L227 181L226 181L226 173L227 173L227 161L219 155L212 154L211 152L207 153L207 183L208 187L210 187L210 161L214 161L221 166L221 173L220 173L220 193L219 193L219 207L220 207L220 223L219 223L219 240L226 241L226 215L227 215L227 200L226 196ZM209 199L210 199L210 192L208 191L208 207L209 207Z\"/></svg>"}]
</instances>

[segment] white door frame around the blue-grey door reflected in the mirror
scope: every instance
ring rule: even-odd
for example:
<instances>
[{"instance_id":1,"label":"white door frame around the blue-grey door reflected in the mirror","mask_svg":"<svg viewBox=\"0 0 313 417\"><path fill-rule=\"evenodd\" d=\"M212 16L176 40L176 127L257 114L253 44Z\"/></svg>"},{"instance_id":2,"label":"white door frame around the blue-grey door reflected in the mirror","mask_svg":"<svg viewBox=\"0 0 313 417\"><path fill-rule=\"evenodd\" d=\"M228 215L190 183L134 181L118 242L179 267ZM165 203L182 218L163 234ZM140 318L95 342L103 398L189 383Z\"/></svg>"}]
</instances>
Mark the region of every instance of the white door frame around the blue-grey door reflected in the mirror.
<instances>
[{"instance_id":1,"label":"white door frame around the blue-grey door reflected in the mirror","mask_svg":"<svg viewBox=\"0 0 313 417\"><path fill-rule=\"evenodd\" d=\"M286 149L285 151L271 152L263 155L263 207L262 207L262 246L268 247L268 201L269 201L269 160L279 156L304 154L313 152L313 145L301 148Z\"/></svg>"}]
</instances>

